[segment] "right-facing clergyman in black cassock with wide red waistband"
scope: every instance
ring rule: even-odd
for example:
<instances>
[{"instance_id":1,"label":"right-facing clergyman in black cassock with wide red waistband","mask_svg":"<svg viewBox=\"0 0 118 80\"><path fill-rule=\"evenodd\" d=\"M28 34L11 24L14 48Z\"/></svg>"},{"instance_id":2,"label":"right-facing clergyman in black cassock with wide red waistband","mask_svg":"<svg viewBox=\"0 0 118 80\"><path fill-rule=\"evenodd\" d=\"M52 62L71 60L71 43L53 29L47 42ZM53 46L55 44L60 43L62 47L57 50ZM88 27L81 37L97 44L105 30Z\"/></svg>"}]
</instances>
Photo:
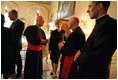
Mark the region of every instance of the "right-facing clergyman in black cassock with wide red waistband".
<instances>
[{"instance_id":1,"label":"right-facing clergyman in black cassock with wide red waistband","mask_svg":"<svg viewBox=\"0 0 118 80\"><path fill-rule=\"evenodd\" d=\"M42 45L46 45L48 42L41 29L43 23L43 17L38 16L36 25L28 26L24 32L28 42L24 69L25 79L41 79L43 75Z\"/></svg>"}]
</instances>

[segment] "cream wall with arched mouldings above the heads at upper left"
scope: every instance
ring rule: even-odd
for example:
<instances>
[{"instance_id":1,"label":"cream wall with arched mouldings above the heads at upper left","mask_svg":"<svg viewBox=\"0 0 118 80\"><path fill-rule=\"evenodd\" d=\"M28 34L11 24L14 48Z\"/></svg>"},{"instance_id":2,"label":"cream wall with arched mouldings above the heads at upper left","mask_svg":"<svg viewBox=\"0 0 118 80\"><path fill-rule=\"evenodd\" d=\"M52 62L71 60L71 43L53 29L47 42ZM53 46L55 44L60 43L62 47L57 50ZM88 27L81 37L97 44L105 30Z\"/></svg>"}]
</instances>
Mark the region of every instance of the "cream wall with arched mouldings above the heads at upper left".
<instances>
[{"instance_id":1,"label":"cream wall with arched mouldings above the heads at upper left","mask_svg":"<svg viewBox=\"0 0 118 80\"><path fill-rule=\"evenodd\" d=\"M49 22L50 6L45 4L33 3L28 1L1 1L1 13L5 13L5 6L7 5L8 11L16 9L18 11L18 17L24 19L25 26L33 25L35 17L37 16L37 10L40 10L40 15L44 17L44 27Z\"/></svg>"}]
</instances>

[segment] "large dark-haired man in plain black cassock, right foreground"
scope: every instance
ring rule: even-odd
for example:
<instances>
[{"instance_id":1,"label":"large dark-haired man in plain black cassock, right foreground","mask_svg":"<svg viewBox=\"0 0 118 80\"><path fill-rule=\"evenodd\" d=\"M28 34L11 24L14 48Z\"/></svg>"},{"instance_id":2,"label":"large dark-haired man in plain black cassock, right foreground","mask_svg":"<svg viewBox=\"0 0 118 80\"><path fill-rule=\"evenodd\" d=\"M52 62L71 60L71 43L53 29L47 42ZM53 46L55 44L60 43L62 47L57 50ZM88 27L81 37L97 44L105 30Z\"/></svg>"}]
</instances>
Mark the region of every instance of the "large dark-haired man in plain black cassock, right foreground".
<instances>
[{"instance_id":1,"label":"large dark-haired man in plain black cassock, right foreground","mask_svg":"<svg viewBox=\"0 0 118 80\"><path fill-rule=\"evenodd\" d=\"M77 76L81 79L109 78L111 57L117 48L117 21L107 10L110 1L91 1L87 12L96 19L95 27L84 47L75 55Z\"/></svg>"}]
</instances>

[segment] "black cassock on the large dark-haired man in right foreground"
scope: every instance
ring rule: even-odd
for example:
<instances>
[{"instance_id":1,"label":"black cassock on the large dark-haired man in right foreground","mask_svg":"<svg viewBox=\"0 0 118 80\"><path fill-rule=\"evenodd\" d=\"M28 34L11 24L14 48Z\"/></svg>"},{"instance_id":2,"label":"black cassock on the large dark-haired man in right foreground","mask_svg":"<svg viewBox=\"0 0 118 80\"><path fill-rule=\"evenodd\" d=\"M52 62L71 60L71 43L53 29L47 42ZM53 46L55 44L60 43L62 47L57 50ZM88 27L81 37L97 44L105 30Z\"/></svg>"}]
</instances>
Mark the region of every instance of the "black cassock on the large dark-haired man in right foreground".
<instances>
[{"instance_id":1,"label":"black cassock on the large dark-haired man in right foreground","mask_svg":"<svg viewBox=\"0 0 118 80\"><path fill-rule=\"evenodd\" d=\"M77 59L81 78L106 78L111 57L117 48L117 21L108 15L96 25Z\"/></svg>"}]
</instances>

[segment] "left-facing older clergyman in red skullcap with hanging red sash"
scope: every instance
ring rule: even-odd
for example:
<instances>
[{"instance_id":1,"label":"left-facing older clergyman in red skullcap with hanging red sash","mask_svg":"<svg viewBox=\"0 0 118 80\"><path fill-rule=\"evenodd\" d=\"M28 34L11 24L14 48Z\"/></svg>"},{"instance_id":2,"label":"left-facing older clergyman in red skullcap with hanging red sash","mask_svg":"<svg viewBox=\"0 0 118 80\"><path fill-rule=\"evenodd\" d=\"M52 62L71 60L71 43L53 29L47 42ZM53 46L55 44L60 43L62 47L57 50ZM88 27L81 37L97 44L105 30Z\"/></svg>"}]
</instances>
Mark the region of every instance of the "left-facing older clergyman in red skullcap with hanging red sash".
<instances>
[{"instance_id":1,"label":"left-facing older clergyman in red skullcap with hanging red sash","mask_svg":"<svg viewBox=\"0 0 118 80\"><path fill-rule=\"evenodd\" d=\"M66 43L61 49L62 52L62 60L60 67L60 79L68 79L70 71L73 71L71 68L73 65L74 55L77 50L81 49L85 42L85 34L82 29L78 26L79 19L77 17L73 17L69 20L68 27L73 32L69 35ZM59 44L59 47L61 45Z\"/></svg>"}]
</instances>

